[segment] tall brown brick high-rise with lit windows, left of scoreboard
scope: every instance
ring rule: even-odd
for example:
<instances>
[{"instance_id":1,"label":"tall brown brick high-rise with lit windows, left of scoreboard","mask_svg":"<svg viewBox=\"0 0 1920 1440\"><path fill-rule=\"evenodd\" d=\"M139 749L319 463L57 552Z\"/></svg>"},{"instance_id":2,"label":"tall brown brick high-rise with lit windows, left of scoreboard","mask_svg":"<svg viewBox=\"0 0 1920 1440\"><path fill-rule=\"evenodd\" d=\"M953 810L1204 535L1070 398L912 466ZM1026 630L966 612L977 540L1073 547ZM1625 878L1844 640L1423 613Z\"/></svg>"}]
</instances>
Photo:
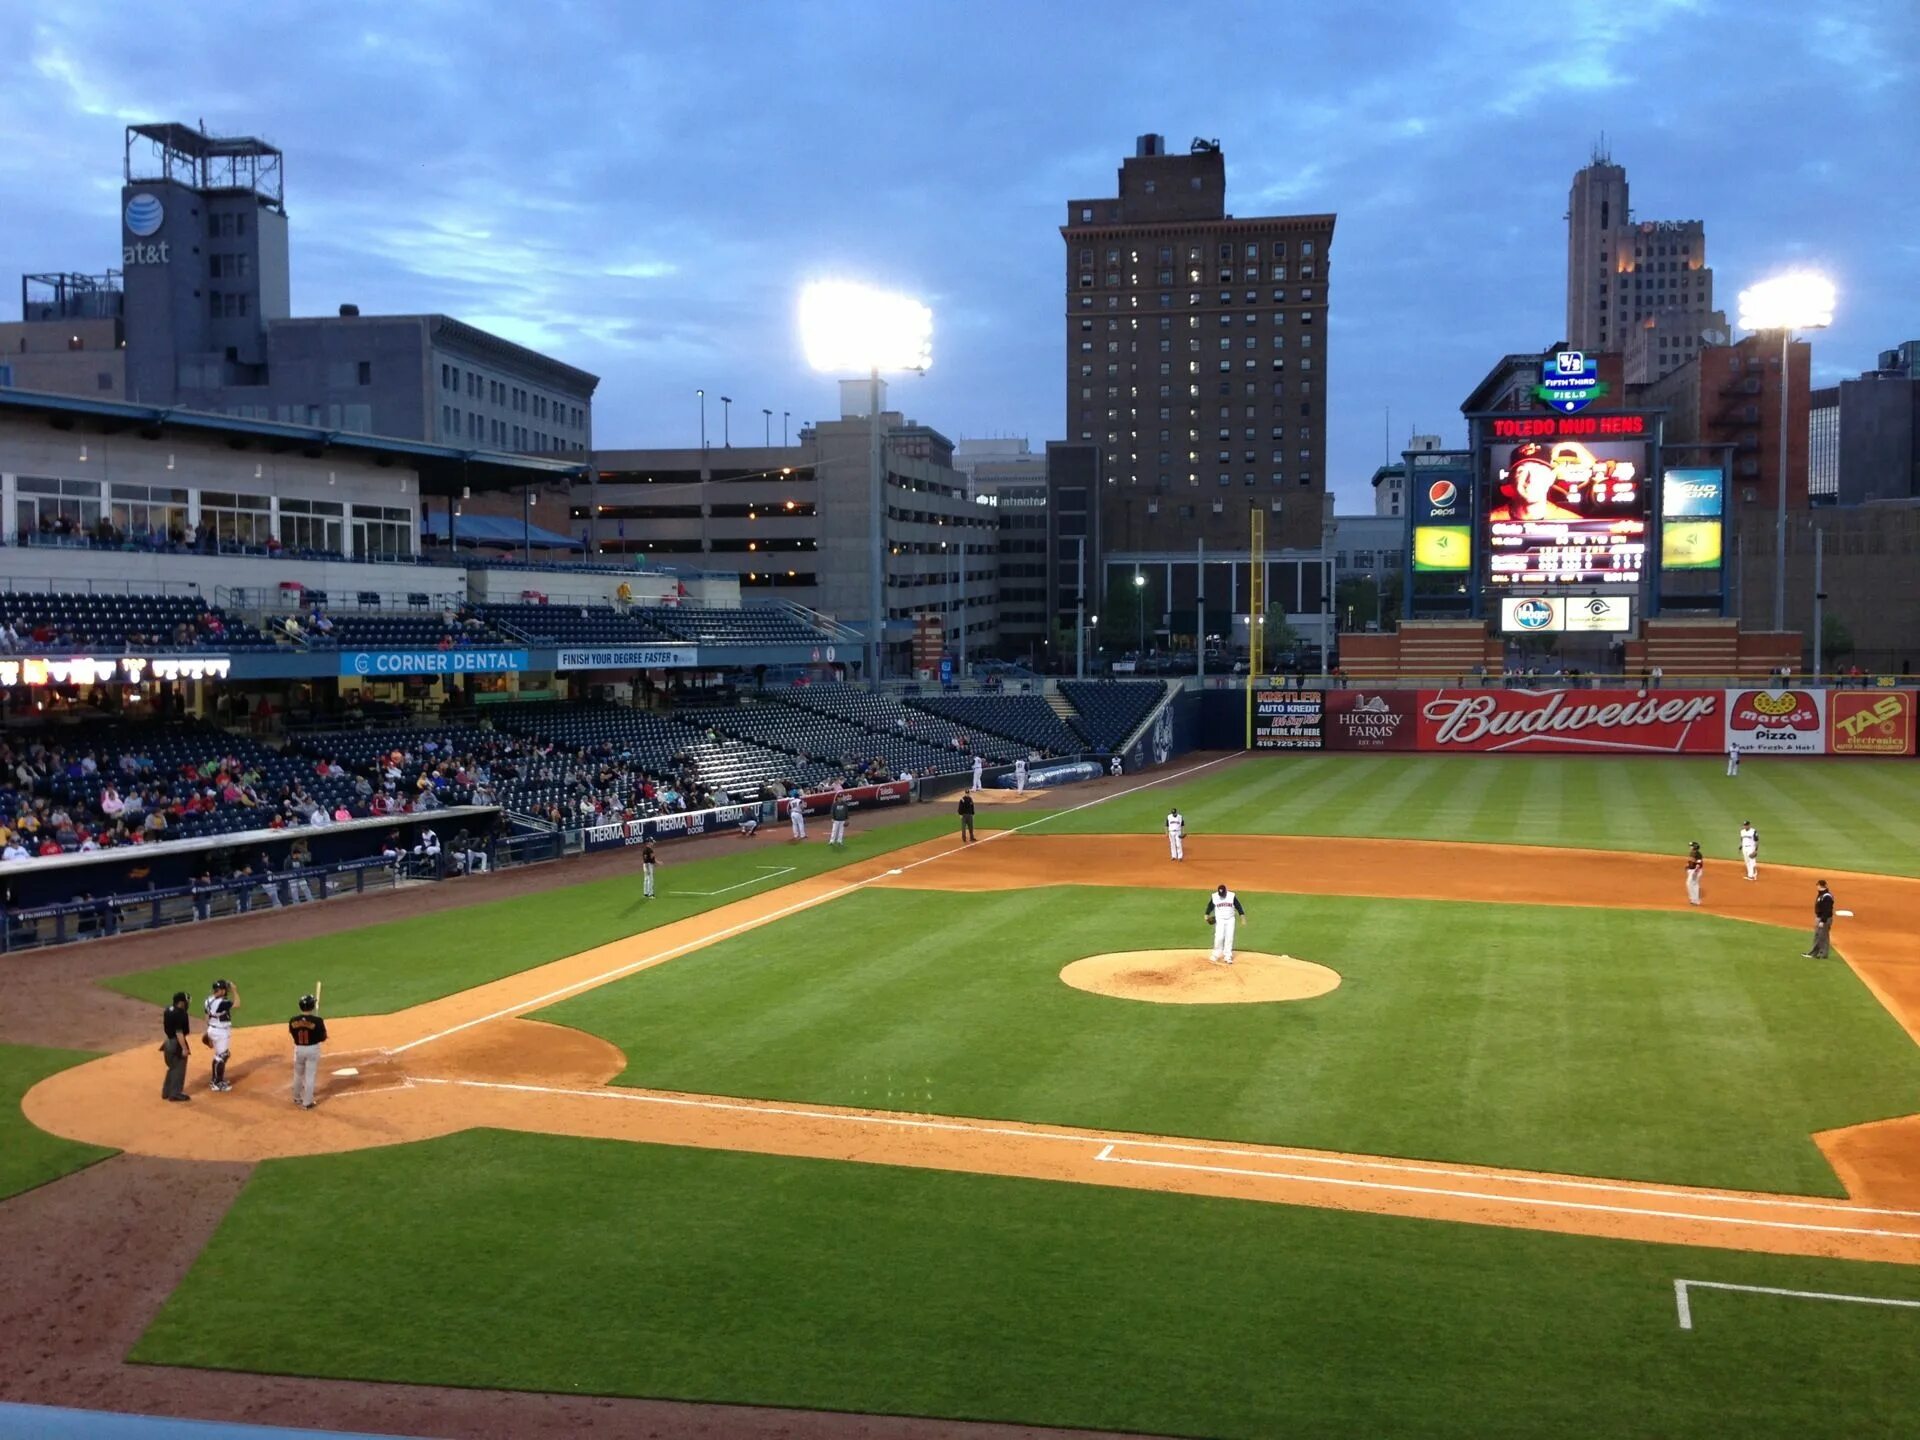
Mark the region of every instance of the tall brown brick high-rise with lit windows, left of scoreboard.
<instances>
[{"instance_id":1,"label":"tall brown brick high-rise with lit windows, left of scoreboard","mask_svg":"<svg viewBox=\"0 0 1920 1440\"><path fill-rule=\"evenodd\" d=\"M1319 551L1332 215L1236 217L1215 142L1144 134L1068 204L1069 442L1100 455L1104 553ZM1210 599L1213 595L1210 593Z\"/></svg>"}]
</instances>

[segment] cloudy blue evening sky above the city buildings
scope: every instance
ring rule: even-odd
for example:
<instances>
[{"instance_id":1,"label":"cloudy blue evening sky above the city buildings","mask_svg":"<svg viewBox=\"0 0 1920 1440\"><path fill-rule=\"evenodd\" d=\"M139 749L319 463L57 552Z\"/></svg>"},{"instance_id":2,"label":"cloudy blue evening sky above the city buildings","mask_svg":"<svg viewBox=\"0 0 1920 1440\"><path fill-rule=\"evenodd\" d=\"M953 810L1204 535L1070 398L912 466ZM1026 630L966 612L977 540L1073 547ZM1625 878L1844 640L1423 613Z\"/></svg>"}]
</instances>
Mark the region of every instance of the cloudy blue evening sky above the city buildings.
<instances>
[{"instance_id":1,"label":"cloudy blue evening sky above the city buildings","mask_svg":"<svg viewBox=\"0 0 1920 1440\"><path fill-rule=\"evenodd\" d=\"M1601 132L1638 217L1707 221L1728 311L1789 265L1834 276L1822 376L1920 336L1914 0L4 0L0 46L8 284L111 261L129 121L261 134L296 313L447 311L549 349L603 376L607 445L693 444L699 386L743 442L762 407L776 434L829 415L793 326L822 275L933 307L910 415L1058 438L1058 225L1144 131L1217 138L1236 213L1338 213L1342 511L1388 409L1396 444L1455 442L1486 369L1559 338Z\"/></svg>"}]
</instances>

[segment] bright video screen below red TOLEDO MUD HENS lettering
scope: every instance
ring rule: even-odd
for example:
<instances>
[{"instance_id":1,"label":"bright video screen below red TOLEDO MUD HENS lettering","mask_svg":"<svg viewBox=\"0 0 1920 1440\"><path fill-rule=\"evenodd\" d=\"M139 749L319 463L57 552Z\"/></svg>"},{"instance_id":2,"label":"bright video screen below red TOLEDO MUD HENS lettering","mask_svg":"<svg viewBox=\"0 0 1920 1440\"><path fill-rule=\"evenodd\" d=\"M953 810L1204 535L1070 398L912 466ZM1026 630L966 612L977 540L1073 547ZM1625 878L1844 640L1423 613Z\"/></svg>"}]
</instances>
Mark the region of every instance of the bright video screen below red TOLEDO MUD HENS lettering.
<instances>
[{"instance_id":1,"label":"bright video screen below red TOLEDO MUD HENS lettering","mask_svg":"<svg viewBox=\"0 0 1920 1440\"><path fill-rule=\"evenodd\" d=\"M1496 447L1490 470L1492 584L1640 584L1653 493L1644 444L1530 440Z\"/></svg>"}]
</instances>

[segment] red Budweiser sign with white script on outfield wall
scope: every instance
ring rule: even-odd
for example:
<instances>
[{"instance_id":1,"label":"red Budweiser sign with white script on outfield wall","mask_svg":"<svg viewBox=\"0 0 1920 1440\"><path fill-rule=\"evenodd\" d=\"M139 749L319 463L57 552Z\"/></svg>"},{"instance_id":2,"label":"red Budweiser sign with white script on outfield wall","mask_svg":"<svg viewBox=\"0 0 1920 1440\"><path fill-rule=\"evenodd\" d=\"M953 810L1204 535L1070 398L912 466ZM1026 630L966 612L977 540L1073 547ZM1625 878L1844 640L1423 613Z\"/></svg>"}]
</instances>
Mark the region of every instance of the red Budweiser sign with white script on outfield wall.
<instances>
[{"instance_id":1,"label":"red Budweiser sign with white script on outfield wall","mask_svg":"<svg viewBox=\"0 0 1920 1440\"><path fill-rule=\"evenodd\" d=\"M1448 753L1713 755L1718 689L1423 689L1419 747Z\"/></svg>"}]
</instances>

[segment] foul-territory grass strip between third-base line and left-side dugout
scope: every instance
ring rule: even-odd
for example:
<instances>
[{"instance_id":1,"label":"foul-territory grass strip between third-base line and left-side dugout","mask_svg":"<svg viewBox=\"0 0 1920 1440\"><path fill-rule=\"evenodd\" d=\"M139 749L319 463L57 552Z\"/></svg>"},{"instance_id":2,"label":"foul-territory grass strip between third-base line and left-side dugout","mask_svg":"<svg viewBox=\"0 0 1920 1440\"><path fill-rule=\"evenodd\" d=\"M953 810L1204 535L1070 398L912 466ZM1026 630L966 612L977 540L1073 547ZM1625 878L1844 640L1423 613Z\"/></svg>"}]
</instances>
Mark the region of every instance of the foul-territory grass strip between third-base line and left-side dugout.
<instances>
[{"instance_id":1,"label":"foul-territory grass strip between third-base line and left-side dugout","mask_svg":"<svg viewBox=\"0 0 1920 1440\"><path fill-rule=\"evenodd\" d=\"M240 989L244 1023L263 1023L292 1014L294 1002L324 981L328 1016L378 1016L444 995L486 985L549 960L563 960L595 945L666 925L732 900L789 885L822 870L835 870L864 856L952 833L945 814L891 824L849 828L847 845L829 849L826 837L791 845L785 829L745 854L693 858L699 849L659 847L659 899L639 895L639 851L632 872L616 879L490 900L411 920L390 920L348 935L321 935L286 945L238 950L219 960L192 960L159 970L117 975L108 983L121 995L165 1004L184 989L200 995L215 975ZM762 866L793 866L789 876L768 876ZM682 891L722 891L684 895ZM474 895L484 895L474 887Z\"/></svg>"}]
</instances>

